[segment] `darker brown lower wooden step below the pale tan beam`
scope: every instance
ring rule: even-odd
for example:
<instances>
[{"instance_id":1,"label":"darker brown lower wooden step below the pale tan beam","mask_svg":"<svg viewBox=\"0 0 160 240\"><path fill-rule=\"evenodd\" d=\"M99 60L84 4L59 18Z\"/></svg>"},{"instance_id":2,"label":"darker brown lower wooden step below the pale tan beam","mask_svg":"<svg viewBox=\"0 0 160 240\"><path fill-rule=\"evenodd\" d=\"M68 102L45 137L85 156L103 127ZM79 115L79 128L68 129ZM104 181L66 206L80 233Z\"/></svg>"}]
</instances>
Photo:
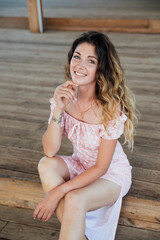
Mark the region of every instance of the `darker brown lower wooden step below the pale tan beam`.
<instances>
[{"instance_id":1,"label":"darker brown lower wooden step below the pale tan beam","mask_svg":"<svg viewBox=\"0 0 160 240\"><path fill-rule=\"evenodd\" d=\"M35 221L33 210L0 205L0 239L7 240L58 240L60 223L53 214L47 222ZM124 226L120 222L115 240L157 240L160 232Z\"/></svg>"}]
</instances>

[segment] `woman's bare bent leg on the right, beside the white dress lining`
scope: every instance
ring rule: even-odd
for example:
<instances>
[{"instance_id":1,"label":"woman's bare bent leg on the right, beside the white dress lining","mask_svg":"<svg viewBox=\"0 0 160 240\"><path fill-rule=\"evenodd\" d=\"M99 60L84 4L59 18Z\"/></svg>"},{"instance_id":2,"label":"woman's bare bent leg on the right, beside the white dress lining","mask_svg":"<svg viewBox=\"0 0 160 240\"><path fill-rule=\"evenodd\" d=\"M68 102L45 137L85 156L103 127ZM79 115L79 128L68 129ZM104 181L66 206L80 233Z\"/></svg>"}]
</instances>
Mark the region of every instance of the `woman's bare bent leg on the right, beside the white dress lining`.
<instances>
[{"instance_id":1,"label":"woman's bare bent leg on the right, beside the white dress lining","mask_svg":"<svg viewBox=\"0 0 160 240\"><path fill-rule=\"evenodd\" d=\"M88 186L69 192L64 198L64 211L59 240L82 240L85 233L85 215L114 203L121 186L99 178Z\"/></svg>"}]
</instances>

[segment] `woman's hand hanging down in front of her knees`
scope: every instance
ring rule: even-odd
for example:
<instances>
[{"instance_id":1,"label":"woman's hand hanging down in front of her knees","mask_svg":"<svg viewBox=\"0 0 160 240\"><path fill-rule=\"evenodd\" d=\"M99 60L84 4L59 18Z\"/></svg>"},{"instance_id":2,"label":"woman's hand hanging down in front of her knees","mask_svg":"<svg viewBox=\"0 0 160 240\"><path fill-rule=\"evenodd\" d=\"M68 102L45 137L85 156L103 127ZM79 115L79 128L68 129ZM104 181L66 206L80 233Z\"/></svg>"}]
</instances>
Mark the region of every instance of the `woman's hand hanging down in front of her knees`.
<instances>
[{"instance_id":1,"label":"woman's hand hanging down in front of her knees","mask_svg":"<svg viewBox=\"0 0 160 240\"><path fill-rule=\"evenodd\" d=\"M33 218L48 221L54 213L62 197L63 195L60 192L60 189L58 187L53 188L46 194L42 202L38 204L33 213Z\"/></svg>"}]
</instances>

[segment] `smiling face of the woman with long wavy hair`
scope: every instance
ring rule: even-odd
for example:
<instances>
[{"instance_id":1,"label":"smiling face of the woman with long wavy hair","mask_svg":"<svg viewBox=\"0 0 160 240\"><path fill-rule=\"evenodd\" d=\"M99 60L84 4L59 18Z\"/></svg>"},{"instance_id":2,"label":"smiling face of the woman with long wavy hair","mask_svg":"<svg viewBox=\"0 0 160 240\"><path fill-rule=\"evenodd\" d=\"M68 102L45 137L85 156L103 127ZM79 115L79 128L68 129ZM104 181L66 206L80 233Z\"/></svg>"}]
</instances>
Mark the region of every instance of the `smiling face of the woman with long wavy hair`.
<instances>
[{"instance_id":1,"label":"smiling face of the woman with long wavy hair","mask_svg":"<svg viewBox=\"0 0 160 240\"><path fill-rule=\"evenodd\" d=\"M97 67L98 57L95 47L87 42L79 44L70 62L70 74L73 82L78 85L96 82Z\"/></svg>"}]
</instances>

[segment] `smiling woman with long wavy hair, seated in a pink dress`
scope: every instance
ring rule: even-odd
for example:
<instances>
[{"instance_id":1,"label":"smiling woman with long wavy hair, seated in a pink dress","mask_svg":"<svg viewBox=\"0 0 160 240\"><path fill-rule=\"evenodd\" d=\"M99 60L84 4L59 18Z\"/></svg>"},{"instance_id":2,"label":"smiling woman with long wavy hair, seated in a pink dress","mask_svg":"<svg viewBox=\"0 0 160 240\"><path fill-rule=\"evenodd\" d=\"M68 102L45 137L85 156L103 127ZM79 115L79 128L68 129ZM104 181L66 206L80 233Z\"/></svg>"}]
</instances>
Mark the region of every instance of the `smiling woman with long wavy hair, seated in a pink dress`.
<instances>
[{"instance_id":1,"label":"smiling woman with long wavy hair, seated in a pink dress","mask_svg":"<svg viewBox=\"0 0 160 240\"><path fill-rule=\"evenodd\" d=\"M115 47L99 32L77 38L68 53L66 82L50 99L51 115L38 171L45 198L34 218L55 211L59 240L113 240L131 169L118 138L133 149L135 100L127 88ZM63 133L72 156L56 155Z\"/></svg>"}]
</instances>

